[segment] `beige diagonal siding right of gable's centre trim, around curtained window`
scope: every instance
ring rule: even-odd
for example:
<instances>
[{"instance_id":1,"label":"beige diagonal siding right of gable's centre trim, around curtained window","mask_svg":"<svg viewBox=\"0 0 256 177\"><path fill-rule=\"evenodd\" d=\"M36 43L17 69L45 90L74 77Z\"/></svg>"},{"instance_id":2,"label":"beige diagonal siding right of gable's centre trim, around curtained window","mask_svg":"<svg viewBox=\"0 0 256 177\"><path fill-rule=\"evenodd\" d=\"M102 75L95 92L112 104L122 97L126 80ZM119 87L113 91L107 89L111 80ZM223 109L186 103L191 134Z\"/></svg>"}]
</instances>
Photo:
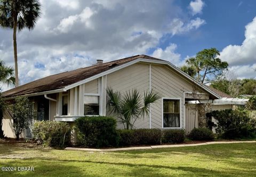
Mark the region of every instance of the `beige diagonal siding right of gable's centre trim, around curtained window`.
<instances>
[{"instance_id":1,"label":"beige diagonal siding right of gable's centre trim, around curtained window","mask_svg":"<svg viewBox=\"0 0 256 177\"><path fill-rule=\"evenodd\" d=\"M168 66L151 65L151 87L162 97L180 98L181 128L184 128L184 94L194 90L193 82L188 81ZM201 89L198 89L197 92L206 94ZM151 106L151 128L163 128L162 123L162 102L158 100L156 104Z\"/></svg>"}]
</instances>

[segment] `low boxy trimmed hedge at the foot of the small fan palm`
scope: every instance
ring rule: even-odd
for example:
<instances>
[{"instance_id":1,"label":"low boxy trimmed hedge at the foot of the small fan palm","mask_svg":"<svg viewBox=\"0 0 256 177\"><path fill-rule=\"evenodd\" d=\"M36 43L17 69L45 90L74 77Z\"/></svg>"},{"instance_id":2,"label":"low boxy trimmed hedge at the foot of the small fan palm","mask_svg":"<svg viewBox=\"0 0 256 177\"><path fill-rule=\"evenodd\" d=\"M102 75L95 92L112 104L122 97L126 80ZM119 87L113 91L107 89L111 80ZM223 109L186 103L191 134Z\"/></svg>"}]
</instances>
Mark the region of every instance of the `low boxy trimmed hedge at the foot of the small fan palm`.
<instances>
[{"instance_id":1,"label":"low boxy trimmed hedge at the foot of the small fan palm","mask_svg":"<svg viewBox=\"0 0 256 177\"><path fill-rule=\"evenodd\" d=\"M160 129L119 130L121 146L158 145L161 143Z\"/></svg>"}]
</instances>

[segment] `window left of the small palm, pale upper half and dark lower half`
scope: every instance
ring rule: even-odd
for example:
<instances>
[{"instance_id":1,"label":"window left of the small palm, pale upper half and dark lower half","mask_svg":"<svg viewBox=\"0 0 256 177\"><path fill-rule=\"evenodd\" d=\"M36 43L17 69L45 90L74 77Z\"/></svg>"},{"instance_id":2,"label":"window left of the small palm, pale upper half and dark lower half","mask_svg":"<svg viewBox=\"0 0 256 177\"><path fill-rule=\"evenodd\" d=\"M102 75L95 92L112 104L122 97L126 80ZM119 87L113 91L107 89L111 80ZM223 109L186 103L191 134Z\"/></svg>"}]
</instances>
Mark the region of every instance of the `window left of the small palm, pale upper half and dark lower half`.
<instances>
[{"instance_id":1,"label":"window left of the small palm, pale upper half and dark lower half","mask_svg":"<svg viewBox=\"0 0 256 177\"><path fill-rule=\"evenodd\" d=\"M99 96L84 96L84 115L99 115Z\"/></svg>"}]
</instances>

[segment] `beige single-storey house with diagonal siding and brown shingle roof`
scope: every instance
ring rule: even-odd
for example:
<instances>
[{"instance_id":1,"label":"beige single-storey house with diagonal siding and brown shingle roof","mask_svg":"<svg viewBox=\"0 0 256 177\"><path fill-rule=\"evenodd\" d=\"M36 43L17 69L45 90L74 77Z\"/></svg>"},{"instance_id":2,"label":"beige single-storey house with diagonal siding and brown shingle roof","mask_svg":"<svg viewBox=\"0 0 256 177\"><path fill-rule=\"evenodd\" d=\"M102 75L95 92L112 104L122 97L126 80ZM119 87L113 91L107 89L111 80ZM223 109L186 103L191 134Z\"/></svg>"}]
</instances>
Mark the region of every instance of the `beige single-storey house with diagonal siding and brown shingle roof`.
<instances>
[{"instance_id":1,"label":"beige single-storey house with diagonal siding and brown shingle roof","mask_svg":"<svg viewBox=\"0 0 256 177\"><path fill-rule=\"evenodd\" d=\"M153 89L161 95L151 104L149 117L135 122L135 128L186 129L202 127L207 106L221 100L218 91L195 81L168 61L136 55L98 63L74 71L50 75L3 92L6 100L27 96L34 102L36 120L66 121L73 124L84 115L109 115L106 88L126 92ZM203 104L189 104L199 100ZM205 104L207 103L207 104ZM210 106L211 107L211 106ZM201 114L199 114L199 113ZM123 128L118 124L118 128ZM12 119L5 112L3 129L14 138ZM27 132L27 134L26 134ZM23 137L30 137L29 130Z\"/></svg>"}]
</instances>

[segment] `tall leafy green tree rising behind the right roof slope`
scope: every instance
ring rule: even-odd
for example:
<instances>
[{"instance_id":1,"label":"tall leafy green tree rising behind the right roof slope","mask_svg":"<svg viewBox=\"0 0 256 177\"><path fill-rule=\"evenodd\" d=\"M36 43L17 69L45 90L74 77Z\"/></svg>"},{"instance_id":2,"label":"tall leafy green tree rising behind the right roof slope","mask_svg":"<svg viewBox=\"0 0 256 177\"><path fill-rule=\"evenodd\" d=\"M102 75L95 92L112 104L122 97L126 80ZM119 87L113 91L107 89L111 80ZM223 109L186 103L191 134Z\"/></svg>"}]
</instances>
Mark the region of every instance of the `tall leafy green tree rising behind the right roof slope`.
<instances>
[{"instance_id":1,"label":"tall leafy green tree rising behind the right roof slope","mask_svg":"<svg viewBox=\"0 0 256 177\"><path fill-rule=\"evenodd\" d=\"M228 68L228 63L222 62L218 58L219 55L220 53L216 48L203 49L196 54L196 57L189 58L186 61L188 66L183 66L182 69L187 74L196 77L197 81L202 83L209 82Z\"/></svg>"}]
</instances>

